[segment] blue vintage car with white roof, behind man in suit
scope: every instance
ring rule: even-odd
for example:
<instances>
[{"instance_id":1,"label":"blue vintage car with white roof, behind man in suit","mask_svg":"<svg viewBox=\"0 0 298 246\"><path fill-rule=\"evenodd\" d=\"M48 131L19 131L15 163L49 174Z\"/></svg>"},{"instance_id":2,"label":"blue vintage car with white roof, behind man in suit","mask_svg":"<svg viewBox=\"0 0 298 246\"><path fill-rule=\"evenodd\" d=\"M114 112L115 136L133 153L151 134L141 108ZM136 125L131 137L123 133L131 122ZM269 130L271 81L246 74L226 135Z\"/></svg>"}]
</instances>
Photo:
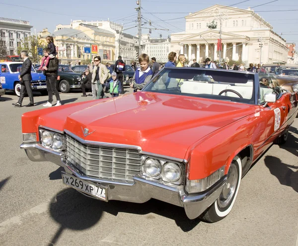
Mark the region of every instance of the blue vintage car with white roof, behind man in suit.
<instances>
[{"instance_id":1,"label":"blue vintage car with white roof, behind man in suit","mask_svg":"<svg viewBox=\"0 0 298 246\"><path fill-rule=\"evenodd\" d=\"M0 63L0 82L3 89L13 90L17 96L20 96L21 84L18 79L21 62L2 62ZM46 77L43 74L36 73L35 69L31 69L31 87L33 90L40 91L42 94L47 93Z\"/></svg>"}]
</instances>

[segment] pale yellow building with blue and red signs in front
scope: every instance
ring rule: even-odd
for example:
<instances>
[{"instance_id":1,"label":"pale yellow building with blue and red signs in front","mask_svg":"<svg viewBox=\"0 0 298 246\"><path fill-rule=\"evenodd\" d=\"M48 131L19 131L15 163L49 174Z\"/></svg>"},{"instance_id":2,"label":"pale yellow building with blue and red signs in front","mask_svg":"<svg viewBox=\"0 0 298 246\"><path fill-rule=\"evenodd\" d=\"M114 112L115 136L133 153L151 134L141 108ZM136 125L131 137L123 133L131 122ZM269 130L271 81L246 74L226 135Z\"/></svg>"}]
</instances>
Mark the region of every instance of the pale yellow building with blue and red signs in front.
<instances>
[{"instance_id":1,"label":"pale yellow building with blue and red signs in front","mask_svg":"<svg viewBox=\"0 0 298 246\"><path fill-rule=\"evenodd\" d=\"M115 60L115 35L110 31L88 24L79 24L74 29L61 28L52 34L47 28L40 32L41 39L45 39L48 35L54 38L61 64L78 65L98 55L103 62ZM91 54L85 53L88 48L89 51L92 49Z\"/></svg>"}]
</instances>

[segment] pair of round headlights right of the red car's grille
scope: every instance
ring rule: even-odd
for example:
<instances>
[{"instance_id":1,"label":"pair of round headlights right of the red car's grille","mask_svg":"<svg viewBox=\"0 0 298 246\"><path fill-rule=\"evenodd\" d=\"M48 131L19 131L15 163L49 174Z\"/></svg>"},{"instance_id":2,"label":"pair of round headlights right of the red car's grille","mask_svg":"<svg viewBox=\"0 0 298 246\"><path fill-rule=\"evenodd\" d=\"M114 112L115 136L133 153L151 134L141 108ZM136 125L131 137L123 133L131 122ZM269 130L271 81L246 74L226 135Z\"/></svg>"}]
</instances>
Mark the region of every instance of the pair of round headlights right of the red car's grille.
<instances>
[{"instance_id":1,"label":"pair of round headlights right of the red car's grille","mask_svg":"<svg viewBox=\"0 0 298 246\"><path fill-rule=\"evenodd\" d=\"M182 168L180 164L148 158L144 162L144 172L147 176L175 183L181 180Z\"/></svg>"}]
</instances>

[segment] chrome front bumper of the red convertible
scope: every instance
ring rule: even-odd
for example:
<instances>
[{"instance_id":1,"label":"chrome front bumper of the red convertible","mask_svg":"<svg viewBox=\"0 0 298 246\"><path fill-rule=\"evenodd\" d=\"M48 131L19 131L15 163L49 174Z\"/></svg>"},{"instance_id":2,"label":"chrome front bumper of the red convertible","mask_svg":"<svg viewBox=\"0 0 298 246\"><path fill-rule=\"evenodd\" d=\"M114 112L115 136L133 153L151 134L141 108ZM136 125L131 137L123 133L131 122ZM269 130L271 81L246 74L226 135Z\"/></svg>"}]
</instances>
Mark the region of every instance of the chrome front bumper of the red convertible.
<instances>
[{"instance_id":1,"label":"chrome front bumper of the red convertible","mask_svg":"<svg viewBox=\"0 0 298 246\"><path fill-rule=\"evenodd\" d=\"M84 176L72 164L68 163L63 152L56 152L35 144L22 144L28 158L33 162L49 161L64 167L65 172L82 180L107 187L108 200L120 200L144 203L154 198L173 205L184 207L189 219L201 215L220 196L226 175L208 190L198 194L188 194L183 185L170 185L149 179L143 175L134 176L134 183L122 183ZM82 192L81 192L82 193ZM84 193L83 193L84 194ZM89 196L85 194L86 196ZM93 197L94 198L94 197Z\"/></svg>"}]
</instances>

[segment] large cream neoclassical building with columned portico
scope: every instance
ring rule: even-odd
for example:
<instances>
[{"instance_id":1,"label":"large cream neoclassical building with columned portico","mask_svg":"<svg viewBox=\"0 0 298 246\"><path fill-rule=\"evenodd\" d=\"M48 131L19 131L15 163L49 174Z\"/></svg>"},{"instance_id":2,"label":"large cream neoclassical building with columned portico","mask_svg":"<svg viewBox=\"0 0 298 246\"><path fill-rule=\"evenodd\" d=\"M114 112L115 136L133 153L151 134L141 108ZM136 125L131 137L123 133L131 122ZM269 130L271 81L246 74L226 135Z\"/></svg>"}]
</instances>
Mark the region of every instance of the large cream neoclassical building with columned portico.
<instances>
[{"instance_id":1,"label":"large cream neoclassical building with columned portico","mask_svg":"<svg viewBox=\"0 0 298 246\"><path fill-rule=\"evenodd\" d=\"M209 57L219 61L218 39L221 36L221 61L241 61L246 65L287 63L286 40L250 8L216 4L191 13L185 19L185 31L171 34L171 51L184 54L189 60L201 62ZM208 27L212 22L217 25L215 29Z\"/></svg>"}]
</instances>

